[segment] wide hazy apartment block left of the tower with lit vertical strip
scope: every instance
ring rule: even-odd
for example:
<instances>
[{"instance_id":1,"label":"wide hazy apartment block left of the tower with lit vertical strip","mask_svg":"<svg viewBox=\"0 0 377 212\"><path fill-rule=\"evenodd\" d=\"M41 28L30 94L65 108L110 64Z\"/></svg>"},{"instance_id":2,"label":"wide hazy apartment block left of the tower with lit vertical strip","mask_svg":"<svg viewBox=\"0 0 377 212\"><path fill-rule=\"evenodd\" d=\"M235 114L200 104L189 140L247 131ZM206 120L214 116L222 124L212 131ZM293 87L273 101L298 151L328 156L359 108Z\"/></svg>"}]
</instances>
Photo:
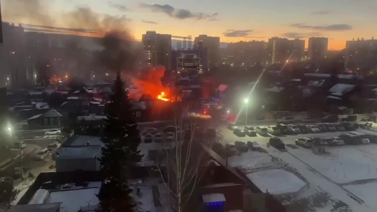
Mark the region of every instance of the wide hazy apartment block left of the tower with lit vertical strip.
<instances>
[{"instance_id":1,"label":"wide hazy apartment block left of the tower with lit vertical strip","mask_svg":"<svg viewBox=\"0 0 377 212\"><path fill-rule=\"evenodd\" d=\"M234 66L254 66L267 62L265 41L239 41L229 43L227 47L226 63Z\"/></svg>"}]
</instances>

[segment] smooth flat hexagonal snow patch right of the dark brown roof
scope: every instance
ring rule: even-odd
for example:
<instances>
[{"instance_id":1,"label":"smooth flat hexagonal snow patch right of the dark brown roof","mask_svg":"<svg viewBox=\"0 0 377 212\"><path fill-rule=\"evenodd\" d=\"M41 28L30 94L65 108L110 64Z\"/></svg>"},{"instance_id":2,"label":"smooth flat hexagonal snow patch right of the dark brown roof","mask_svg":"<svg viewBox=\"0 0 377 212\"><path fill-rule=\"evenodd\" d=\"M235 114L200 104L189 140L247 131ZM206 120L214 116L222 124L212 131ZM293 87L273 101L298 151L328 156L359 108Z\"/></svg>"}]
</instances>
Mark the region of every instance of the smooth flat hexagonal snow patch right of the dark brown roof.
<instances>
[{"instance_id":1,"label":"smooth flat hexagonal snow patch right of the dark brown roof","mask_svg":"<svg viewBox=\"0 0 377 212\"><path fill-rule=\"evenodd\" d=\"M306 185L304 181L291 172L273 169L247 174L247 177L261 189L272 194L287 194L299 191Z\"/></svg>"}]
</instances>

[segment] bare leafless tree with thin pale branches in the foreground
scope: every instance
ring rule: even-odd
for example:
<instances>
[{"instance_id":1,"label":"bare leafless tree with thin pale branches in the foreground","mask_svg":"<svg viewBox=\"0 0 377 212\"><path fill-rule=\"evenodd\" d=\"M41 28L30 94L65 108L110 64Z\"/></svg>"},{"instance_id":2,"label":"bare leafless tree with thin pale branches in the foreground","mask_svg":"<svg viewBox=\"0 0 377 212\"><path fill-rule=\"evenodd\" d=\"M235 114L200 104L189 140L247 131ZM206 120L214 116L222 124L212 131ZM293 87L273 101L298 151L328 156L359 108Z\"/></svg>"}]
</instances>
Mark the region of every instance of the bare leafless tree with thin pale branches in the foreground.
<instances>
[{"instance_id":1,"label":"bare leafless tree with thin pale branches in the foreground","mask_svg":"<svg viewBox=\"0 0 377 212\"><path fill-rule=\"evenodd\" d=\"M164 148L164 158L157 157L157 167L170 193L170 206L175 212L183 212L204 172L203 150L196 142L193 117L184 119L181 102L175 103L175 138L169 148ZM184 107L183 107L184 108ZM192 210L192 208L190 209Z\"/></svg>"}]
</instances>

